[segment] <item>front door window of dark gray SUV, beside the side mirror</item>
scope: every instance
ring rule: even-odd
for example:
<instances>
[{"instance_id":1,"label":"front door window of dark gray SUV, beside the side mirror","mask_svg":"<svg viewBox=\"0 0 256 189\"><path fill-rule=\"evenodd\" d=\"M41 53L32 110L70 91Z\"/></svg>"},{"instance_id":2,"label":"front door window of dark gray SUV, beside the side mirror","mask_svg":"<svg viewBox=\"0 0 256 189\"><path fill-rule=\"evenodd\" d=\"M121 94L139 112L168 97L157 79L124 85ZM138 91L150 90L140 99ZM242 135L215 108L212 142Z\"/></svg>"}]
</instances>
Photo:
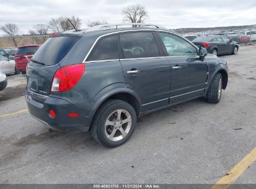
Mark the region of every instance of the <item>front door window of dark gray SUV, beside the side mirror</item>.
<instances>
[{"instance_id":1,"label":"front door window of dark gray SUV, beside the side mirror","mask_svg":"<svg viewBox=\"0 0 256 189\"><path fill-rule=\"evenodd\" d=\"M198 55L196 47L176 35L159 32L168 56L193 56Z\"/></svg>"}]
</instances>

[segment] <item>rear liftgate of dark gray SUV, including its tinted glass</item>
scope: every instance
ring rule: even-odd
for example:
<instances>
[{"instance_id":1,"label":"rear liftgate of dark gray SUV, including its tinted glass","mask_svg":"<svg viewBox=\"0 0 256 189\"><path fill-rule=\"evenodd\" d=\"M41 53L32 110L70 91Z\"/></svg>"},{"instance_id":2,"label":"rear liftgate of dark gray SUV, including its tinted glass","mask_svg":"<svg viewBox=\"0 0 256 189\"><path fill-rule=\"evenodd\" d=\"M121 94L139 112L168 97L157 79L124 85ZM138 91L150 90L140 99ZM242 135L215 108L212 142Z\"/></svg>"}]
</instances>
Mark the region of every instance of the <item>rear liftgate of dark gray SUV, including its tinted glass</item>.
<instances>
[{"instance_id":1,"label":"rear liftgate of dark gray SUV, including its tinted glass","mask_svg":"<svg viewBox=\"0 0 256 189\"><path fill-rule=\"evenodd\" d=\"M79 37L50 37L37 50L27 65L28 90L48 96L55 71L60 68L59 62L75 45Z\"/></svg>"}]
</instances>

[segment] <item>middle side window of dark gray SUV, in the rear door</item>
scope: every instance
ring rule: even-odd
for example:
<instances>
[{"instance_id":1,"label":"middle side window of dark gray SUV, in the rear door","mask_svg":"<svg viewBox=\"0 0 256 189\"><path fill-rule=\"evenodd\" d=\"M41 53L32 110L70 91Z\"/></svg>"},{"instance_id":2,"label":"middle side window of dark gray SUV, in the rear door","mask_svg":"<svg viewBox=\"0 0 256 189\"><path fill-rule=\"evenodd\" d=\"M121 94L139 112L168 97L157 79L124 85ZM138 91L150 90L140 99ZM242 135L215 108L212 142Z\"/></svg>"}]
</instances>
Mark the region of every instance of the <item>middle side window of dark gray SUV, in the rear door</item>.
<instances>
[{"instance_id":1,"label":"middle side window of dark gray SUV, in the rear door","mask_svg":"<svg viewBox=\"0 0 256 189\"><path fill-rule=\"evenodd\" d=\"M151 32L120 34L120 54L120 58L147 58L160 55Z\"/></svg>"}]
</instances>

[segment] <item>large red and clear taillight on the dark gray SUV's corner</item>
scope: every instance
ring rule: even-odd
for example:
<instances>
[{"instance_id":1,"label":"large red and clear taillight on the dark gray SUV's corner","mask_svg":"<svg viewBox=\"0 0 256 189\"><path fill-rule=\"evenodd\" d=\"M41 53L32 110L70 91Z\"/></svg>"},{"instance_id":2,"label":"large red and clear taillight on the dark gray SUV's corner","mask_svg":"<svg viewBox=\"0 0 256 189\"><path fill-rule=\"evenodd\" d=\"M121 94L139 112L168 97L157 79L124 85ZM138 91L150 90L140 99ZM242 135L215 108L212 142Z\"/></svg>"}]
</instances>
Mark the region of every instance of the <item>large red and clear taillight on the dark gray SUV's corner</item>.
<instances>
[{"instance_id":1,"label":"large red and clear taillight on the dark gray SUV's corner","mask_svg":"<svg viewBox=\"0 0 256 189\"><path fill-rule=\"evenodd\" d=\"M60 68L55 72L51 92L68 91L77 85L85 71L85 64L79 63Z\"/></svg>"}]
</instances>

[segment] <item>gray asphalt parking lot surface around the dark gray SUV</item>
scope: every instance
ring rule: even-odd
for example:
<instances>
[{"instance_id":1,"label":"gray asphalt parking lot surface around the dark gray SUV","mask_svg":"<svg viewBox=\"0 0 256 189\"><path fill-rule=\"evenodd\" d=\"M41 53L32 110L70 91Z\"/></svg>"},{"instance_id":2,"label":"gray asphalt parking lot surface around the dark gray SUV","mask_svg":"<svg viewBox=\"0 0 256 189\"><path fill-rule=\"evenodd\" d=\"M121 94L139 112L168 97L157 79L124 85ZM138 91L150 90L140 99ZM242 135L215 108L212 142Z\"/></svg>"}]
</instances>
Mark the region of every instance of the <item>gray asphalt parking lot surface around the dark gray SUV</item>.
<instances>
[{"instance_id":1,"label":"gray asphalt parking lot surface around the dark gray SUV","mask_svg":"<svg viewBox=\"0 0 256 189\"><path fill-rule=\"evenodd\" d=\"M256 46L222 56L219 104L196 99L141 118L107 149L90 133L49 132L27 113L25 79L0 92L0 183L216 183L256 147ZM256 183L256 163L235 183Z\"/></svg>"}]
</instances>

